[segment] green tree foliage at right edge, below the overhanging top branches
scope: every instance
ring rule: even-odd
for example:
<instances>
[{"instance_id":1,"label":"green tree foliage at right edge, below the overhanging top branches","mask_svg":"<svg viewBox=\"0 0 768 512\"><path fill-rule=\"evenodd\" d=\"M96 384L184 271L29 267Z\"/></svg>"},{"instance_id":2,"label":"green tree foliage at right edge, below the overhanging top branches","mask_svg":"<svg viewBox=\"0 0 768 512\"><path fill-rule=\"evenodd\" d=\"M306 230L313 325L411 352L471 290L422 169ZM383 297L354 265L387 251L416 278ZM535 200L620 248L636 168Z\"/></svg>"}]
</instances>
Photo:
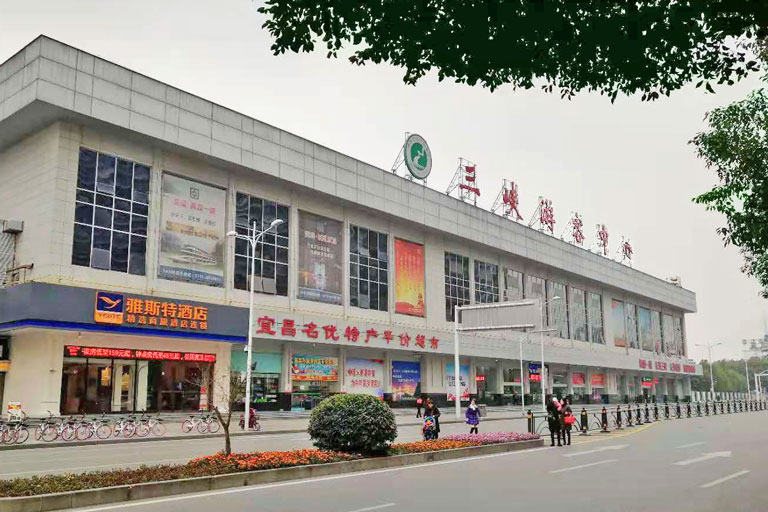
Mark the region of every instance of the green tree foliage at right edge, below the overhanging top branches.
<instances>
[{"instance_id":1,"label":"green tree foliage at right edge, below the overhanging top branches","mask_svg":"<svg viewBox=\"0 0 768 512\"><path fill-rule=\"evenodd\" d=\"M764 89L707 114L708 130L691 141L719 184L694 201L725 215L717 232L739 247L742 271L768 298L768 95Z\"/></svg>"}]
</instances>

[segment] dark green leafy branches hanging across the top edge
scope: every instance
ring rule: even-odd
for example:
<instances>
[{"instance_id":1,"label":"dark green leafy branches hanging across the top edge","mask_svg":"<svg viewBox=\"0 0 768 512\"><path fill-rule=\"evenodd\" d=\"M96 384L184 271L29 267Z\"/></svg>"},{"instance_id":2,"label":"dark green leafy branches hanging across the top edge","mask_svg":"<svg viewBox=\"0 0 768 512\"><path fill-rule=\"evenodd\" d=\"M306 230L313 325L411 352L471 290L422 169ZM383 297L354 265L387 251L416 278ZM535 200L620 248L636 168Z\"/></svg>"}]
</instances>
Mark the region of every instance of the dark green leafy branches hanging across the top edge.
<instances>
[{"instance_id":1,"label":"dark green leafy branches hanging across the top edge","mask_svg":"<svg viewBox=\"0 0 768 512\"><path fill-rule=\"evenodd\" d=\"M732 84L758 69L749 46L768 35L764 0L266 0L272 51L430 70L491 90L669 95L698 81Z\"/></svg>"}]
</instances>

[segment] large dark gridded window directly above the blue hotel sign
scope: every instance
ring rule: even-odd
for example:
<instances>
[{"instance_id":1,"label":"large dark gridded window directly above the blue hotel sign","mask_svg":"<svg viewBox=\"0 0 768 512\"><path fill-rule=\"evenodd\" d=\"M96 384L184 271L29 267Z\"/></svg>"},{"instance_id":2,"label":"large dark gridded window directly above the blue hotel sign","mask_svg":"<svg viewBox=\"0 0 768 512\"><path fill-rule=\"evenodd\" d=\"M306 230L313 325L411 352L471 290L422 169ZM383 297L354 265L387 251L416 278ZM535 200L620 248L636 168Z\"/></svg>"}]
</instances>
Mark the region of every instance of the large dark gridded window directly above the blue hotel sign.
<instances>
[{"instance_id":1,"label":"large dark gridded window directly above the blue hotel sign","mask_svg":"<svg viewBox=\"0 0 768 512\"><path fill-rule=\"evenodd\" d=\"M149 167L80 148L72 264L143 276L148 203Z\"/></svg>"}]
</instances>

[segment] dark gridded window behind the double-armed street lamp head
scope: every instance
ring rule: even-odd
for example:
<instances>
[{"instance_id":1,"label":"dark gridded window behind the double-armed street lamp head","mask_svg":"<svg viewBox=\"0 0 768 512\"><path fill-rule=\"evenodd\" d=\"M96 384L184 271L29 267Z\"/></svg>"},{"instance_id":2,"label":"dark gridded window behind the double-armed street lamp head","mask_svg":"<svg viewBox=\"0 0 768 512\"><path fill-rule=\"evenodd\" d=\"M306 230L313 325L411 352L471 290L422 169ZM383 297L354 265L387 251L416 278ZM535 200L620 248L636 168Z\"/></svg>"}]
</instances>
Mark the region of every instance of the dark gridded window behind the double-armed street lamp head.
<instances>
[{"instance_id":1,"label":"dark gridded window behind the double-armed street lamp head","mask_svg":"<svg viewBox=\"0 0 768 512\"><path fill-rule=\"evenodd\" d=\"M255 262L251 261L251 244L235 240L235 288L250 289L251 263L256 277L254 290L271 295L288 295L288 207L238 192L235 197L235 229L238 234L253 236L267 229L275 219L282 219L256 246Z\"/></svg>"}]
</instances>

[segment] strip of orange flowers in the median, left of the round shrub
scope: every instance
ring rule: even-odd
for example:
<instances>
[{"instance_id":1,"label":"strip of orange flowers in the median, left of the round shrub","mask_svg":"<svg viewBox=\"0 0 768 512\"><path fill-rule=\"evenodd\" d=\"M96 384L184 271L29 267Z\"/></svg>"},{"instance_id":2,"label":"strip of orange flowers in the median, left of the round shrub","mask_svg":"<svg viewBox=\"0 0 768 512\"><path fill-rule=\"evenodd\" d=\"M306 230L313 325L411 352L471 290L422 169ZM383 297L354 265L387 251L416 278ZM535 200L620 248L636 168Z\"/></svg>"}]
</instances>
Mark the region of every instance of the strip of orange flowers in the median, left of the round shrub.
<instances>
[{"instance_id":1,"label":"strip of orange flowers in the median, left of the round shrub","mask_svg":"<svg viewBox=\"0 0 768 512\"><path fill-rule=\"evenodd\" d=\"M216 454L210 457L194 459L187 464L179 466L142 466L136 469L113 469L111 471L0 480L0 497L36 496L54 492L72 492L83 489L116 487L118 485L224 475L257 469L328 464L358 458L360 458L358 455L322 450L258 452L232 454L230 456Z\"/></svg>"}]
</instances>

